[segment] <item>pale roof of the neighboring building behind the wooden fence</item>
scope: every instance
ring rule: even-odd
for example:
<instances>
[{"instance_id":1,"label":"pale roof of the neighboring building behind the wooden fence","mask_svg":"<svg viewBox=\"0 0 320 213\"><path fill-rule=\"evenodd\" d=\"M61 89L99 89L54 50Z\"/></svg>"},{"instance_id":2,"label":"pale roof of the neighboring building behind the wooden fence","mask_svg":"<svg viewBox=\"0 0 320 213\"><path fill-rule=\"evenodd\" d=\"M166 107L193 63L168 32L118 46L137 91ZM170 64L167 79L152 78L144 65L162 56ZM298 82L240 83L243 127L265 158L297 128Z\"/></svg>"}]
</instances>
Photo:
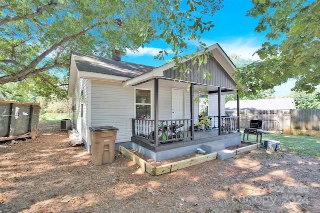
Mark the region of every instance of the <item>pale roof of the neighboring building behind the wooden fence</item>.
<instances>
[{"instance_id":1,"label":"pale roof of the neighboring building behind the wooden fence","mask_svg":"<svg viewBox=\"0 0 320 213\"><path fill-rule=\"evenodd\" d=\"M240 100L239 107L239 110L282 110L283 112L296 109L293 98ZM225 110L237 110L237 101L227 101Z\"/></svg>"}]
</instances>

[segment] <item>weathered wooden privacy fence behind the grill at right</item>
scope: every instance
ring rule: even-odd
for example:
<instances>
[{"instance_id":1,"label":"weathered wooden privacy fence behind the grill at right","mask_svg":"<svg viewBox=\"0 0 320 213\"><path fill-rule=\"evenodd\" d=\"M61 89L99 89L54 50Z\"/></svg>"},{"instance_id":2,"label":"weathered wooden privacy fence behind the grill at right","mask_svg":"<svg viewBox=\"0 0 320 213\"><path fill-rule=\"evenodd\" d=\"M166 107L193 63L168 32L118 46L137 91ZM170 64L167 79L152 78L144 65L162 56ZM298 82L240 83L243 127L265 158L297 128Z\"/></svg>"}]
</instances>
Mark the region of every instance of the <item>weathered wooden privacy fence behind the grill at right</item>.
<instances>
[{"instance_id":1,"label":"weathered wooden privacy fence behind the grill at right","mask_svg":"<svg viewBox=\"0 0 320 213\"><path fill-rule=\"evenodd\" d=\"M236 111L225 111L236 116ZM320 109L240 110L240 129L249 127L251 119L262 119L264 130L283 134L320 136Z\"/></svg>"}]
</instances>

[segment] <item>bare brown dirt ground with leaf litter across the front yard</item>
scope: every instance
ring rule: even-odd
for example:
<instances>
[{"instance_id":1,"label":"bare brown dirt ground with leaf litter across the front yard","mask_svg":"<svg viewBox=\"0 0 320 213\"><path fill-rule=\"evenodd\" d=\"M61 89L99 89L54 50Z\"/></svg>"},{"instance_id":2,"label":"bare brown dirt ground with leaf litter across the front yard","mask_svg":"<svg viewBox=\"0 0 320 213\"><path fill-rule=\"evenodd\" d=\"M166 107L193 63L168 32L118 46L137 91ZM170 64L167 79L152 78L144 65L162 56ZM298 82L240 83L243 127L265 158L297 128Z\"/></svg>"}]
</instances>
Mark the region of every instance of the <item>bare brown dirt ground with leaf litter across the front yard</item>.
<instances>
[{"instance_id":1,"label":"bare brown dirt ground with leaf litter across the front yard","mask_svg":"<svg viewBox=\"0 0 320 213\"><path fill-rule=\"evenodd\" d=\"M0 148L0 213L320 212L320 159L260 148L151 176L115 153L94 166L58 124Z\"/></svg>"}]
</instances>

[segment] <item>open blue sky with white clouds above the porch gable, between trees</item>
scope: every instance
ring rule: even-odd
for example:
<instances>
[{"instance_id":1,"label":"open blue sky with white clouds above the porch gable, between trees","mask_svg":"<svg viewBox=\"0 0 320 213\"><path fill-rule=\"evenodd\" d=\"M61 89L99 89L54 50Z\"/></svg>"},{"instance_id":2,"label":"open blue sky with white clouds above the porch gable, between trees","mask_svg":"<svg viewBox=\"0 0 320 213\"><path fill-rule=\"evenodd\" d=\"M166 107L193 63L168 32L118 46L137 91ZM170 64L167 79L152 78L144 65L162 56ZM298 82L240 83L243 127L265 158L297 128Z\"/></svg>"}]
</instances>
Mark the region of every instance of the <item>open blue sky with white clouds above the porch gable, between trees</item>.
<instances>
[{"instance_id":1,"label":"open blue sky with white clouds above the porch gable, between trees","mask_svg":"<svg viewBox=\"0 0 320 213\"><path fill-rule=\"evenodd\" d=\"M210 19L215 25L209 32L201 35L201 41L207 46L219 43L222 49L227 53L236 53L245 59L258 60L258 56L252 54L266 41L264 33L254 31L258 19L245 16L246 11L252 7L250 0L223 0L223 8L218 10ZM146 45L143 49L139 48L137 53L127 52L122 58L123 61L146 64L151 66L160 66L170 59L172 54L168 55L166 60L159 61L153 57L159 50L165 49L172 52L163 41L154 41ZM196 45L189 44L189 53L195 51ZM294 86L294 80L288 81L275 88L275 96L285 95L290 92Z\"/></svg>"}]
</instances>

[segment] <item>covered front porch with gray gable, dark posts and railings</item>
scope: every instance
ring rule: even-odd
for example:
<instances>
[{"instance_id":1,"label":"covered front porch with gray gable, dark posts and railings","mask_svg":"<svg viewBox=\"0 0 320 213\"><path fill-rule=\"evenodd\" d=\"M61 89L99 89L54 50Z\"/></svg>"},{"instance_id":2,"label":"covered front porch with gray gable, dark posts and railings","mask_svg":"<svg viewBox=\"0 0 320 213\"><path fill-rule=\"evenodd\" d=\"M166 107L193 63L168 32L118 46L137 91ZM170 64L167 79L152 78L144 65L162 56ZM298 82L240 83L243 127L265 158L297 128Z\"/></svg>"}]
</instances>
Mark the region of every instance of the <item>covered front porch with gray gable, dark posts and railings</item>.
<instances>
[{"instance_id":1,"label":"covered front porch with gray gable, dark posts and railings","mask_svg":"<svg viewBox=\"0 0 320 213\"><path fill-rule=\"evenodd\" d=\"M171 62L123 82L123 87L136 88L133 149L158 160L190 154L197 147L212 152L215 147L221 150L241 143L239 112L237 116L224 113L224 95L237 93L232 75L235 66L219 45L208 51L213 56L201 67L185 59L183 66L189 67L189 72L179 72ZM203 77L207 73L211 78ZM196 102L196 97L206 98L208 104ZM210 124L199 128L200 112Z\"/></svg>"}]
</instances>

